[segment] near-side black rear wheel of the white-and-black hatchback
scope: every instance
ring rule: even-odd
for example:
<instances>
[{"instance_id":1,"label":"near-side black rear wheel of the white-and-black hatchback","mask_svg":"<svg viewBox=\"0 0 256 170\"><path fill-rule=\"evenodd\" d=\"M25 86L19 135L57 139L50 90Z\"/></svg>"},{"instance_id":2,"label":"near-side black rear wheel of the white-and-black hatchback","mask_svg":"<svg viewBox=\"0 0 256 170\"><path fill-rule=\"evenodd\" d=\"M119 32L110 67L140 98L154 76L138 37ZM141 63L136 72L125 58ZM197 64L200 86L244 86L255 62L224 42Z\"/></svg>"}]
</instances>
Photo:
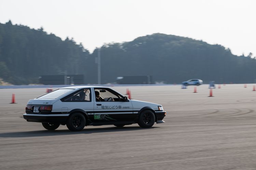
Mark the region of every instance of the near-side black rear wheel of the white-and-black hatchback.
<instances>
[{"instance_id":1,"label":"near-side black rear wheel of the white-and-black hatchback","mask_svg":"<svg viewBox=\"0 0 256 170\"><path fill-rule=\"evenodd\" d=\"M73 113L67 121L67 127L70 131L81 131L84 129L85 121L82 113Z\"/></svg>"}]
</instances>

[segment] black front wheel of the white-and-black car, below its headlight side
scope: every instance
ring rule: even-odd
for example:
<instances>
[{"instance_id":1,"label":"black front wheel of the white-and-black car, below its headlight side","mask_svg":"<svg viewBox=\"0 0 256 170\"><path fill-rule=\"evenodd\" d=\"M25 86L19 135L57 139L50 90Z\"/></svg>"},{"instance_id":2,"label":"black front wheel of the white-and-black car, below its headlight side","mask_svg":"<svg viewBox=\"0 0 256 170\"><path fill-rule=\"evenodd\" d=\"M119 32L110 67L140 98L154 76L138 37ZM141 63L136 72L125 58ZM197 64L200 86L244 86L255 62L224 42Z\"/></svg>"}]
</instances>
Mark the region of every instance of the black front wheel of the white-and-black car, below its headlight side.
<instances>
[{"instance_id":1,"label":"black front wheel of the white-and-black car, below its headlight side","mask_svg":"<svg viewBox=\"0 0 256 170\"><path fill-rule=\"evenodd\" d=\"M151 128L155 123L155 115L151 110L145 110L139 115L138 124L141 128Z\"/></svg>"}]
</instances>

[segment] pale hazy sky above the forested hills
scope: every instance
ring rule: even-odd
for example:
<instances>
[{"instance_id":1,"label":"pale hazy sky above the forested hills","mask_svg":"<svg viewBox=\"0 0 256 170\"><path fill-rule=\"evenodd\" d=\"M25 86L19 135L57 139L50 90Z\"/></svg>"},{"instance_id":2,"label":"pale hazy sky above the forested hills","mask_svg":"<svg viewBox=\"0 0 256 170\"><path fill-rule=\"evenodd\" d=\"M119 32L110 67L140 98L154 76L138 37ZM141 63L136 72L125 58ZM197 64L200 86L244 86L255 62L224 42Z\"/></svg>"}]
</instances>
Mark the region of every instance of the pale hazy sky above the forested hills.
<instances>
[{"instance_id":1,"label":"pale hazy sky above the forested hills","mask_svg":"<svg viewBox=\"0 0 256 170\"><path fill-rule=\"evenodd\" d=\"M0 0L0 22L43 27L92 52L164 33L256 56L256 0Z\"/></svg>"}]
</instances>

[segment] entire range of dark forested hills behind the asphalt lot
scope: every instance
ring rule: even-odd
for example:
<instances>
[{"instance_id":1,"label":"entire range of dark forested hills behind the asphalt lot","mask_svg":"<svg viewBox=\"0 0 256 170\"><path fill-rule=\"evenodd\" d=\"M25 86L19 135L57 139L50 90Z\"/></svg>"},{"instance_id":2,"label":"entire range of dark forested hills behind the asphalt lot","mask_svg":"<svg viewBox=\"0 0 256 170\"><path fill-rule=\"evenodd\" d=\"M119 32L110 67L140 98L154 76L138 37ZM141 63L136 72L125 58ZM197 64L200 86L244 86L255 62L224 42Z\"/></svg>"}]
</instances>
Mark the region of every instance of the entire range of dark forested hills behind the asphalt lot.
<instances>
[{"instance_id":1,"label":"entire range of dark forested hills behind the asphalt lot","mask_svg":"<svg viewBox=\"0 0 256 170\"><path fill-rule=\"evenodd\" d=\"M92 54L72 39L62 41L43 29L0 23L0 78L12 84L38 83L40 75L84 74L97 83L97 49ZM154 81L254 83L256 60L233 55L221 45L174 35L152 34L101 47L101 83L126 75L152 75Z\"/></svg>"}]
</instances>

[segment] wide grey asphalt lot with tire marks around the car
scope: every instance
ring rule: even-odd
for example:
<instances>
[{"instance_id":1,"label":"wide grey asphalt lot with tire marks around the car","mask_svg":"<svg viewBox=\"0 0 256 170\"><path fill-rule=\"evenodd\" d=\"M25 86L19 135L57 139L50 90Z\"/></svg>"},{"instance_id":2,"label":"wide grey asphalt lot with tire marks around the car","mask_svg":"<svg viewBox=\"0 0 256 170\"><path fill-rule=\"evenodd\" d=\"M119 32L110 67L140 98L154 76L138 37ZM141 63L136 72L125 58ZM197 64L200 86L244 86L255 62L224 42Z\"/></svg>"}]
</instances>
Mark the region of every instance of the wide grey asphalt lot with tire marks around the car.
<instances>
[{"instance_id":1,"label":"wide grey asphalt lot with tire marks around the car","mask_svg":"<svg viewBox=\"0 0 256 170\"><path fill-rule=\"evenodd\" d=\"M218 86L217 86L218 87ZM0 169L256 169L253 85L113 87L136 100L162 104L166 123L142 129L66 126L47 131L23 119L29 99L46 89L0 89ZM11 102L15 94L16 104Z\"/></svg>"}]
</instances>

